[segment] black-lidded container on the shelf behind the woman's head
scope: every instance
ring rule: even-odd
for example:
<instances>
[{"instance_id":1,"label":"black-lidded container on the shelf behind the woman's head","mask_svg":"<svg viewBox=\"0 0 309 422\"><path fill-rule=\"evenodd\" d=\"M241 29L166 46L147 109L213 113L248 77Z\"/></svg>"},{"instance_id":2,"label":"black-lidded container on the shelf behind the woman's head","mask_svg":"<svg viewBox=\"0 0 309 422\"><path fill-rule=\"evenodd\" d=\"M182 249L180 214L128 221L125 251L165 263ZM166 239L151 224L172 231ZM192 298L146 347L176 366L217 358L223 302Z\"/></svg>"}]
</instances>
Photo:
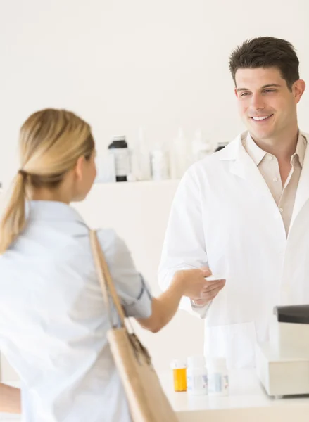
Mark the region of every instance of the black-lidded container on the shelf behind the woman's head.
<instances>
[{"instance_id":1,"label":"black-lidded container on the shelf behind the woman's head","mask_svg":"<svg viewBox=\"0 0 309 422\"><path fill-rule=\"evenodd\" d=\"M115 158L116 181L127 181L127 176L130 174L130 151L125 136L115 136L108 146L108 151Z\"/></svg>"}]
</instances>

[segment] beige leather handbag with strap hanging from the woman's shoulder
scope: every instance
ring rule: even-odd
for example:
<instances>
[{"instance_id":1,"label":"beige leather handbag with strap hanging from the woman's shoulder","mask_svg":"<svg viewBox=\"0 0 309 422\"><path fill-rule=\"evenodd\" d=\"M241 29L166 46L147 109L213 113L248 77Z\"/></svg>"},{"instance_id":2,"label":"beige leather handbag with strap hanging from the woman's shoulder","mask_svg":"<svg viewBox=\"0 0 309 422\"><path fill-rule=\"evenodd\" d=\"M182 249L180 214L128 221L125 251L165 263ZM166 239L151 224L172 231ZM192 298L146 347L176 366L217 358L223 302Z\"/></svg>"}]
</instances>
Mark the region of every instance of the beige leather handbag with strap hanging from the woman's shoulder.
<instances>
[{"instance_id":1,"label":"beige leather handbag with strap hanging from the woman's shoulder","mask_svg":"<svg viewBox=\"0 0 309 422\"><path fill-rule=\"evenodd\" d=\"M133 422L177 422L168 398L160 385L156 371L151 364L151 357L131 327L127 329L125 312L113 285L96 232L90 232L92 253L96 271L101 283L103 299L111 320L108 331L108 343L115 360L122 385L125 388L127 402ZM115 305L120 320L120 327L113 324L110 298Z\"/></svg>"}]
</instances>

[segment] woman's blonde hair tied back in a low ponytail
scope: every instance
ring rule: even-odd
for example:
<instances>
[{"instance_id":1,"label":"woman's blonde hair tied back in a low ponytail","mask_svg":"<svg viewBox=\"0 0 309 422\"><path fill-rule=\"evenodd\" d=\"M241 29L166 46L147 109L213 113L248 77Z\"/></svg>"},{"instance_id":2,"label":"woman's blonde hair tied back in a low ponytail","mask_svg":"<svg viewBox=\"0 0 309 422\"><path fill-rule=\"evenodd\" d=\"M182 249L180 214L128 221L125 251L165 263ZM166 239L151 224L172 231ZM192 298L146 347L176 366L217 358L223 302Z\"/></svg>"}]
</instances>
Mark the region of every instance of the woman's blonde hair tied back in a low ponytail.
<instances>
[{"instance_id":1,"label":"woman's blonde hair tied back in a low ponytail","mask_svg":"<svg viewBox=\"0 0 309 422\"><path fill-rule=\"evenodd\" d=\"M29 188L56 188L78 158L89 160L94 139L89 124L66 110L46 109L27 118L20 129L20 170L0 224L0 253L25 227Z\"/></svg>"}]
</instances>

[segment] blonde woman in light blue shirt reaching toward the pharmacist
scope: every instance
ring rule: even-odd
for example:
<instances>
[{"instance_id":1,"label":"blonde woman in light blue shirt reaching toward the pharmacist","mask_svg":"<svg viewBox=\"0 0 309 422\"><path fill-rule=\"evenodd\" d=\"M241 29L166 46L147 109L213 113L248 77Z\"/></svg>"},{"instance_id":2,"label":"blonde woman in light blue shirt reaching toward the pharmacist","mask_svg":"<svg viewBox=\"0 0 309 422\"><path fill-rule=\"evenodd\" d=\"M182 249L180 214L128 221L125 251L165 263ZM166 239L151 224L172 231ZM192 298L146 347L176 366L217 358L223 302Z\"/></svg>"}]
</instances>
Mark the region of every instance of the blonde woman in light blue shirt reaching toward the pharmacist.
<instances>
[{"instance_id":1,"label":"blonde woman in light blue shirt reaching toward the pharmacist","mask_svg":"<svg viewBox=\"0 0 309 422\"><path fill-rule=\"evenodd\" d=\"M20 376L25 422L130 421L89 229L69 205L92 187L94 157L89 124L68 111L39 111L20 130L20 170L0 226L0 350ZM144 328L168 324L183 295L211 295L210 271L191 269L152 298L115 231L98 236L122 305ZM2 410L15 411L16 391L2 388L11 397Z\"/></svg>"}]
</instances>

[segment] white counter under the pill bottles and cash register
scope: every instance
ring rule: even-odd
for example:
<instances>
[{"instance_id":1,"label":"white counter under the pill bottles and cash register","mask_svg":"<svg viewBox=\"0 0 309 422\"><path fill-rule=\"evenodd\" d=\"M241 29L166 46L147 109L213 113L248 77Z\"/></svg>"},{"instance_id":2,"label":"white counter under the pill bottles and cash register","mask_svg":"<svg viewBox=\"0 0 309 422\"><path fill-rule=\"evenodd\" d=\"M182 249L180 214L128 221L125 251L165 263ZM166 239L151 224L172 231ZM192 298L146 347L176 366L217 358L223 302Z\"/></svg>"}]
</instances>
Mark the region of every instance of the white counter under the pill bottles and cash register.
<instances>
[{"instance_id":1,"label":"white counter under the pill bottles and cash register","mask_svg":"<svg viewBox=\"0 0 309 422\"><path fill-rule=\"evenodd\" d=\"M308 422L309 397L267 397L253 371L230 374L228 397L192 397L186 392L174 392L170 373L161 376L161 381L179 422ZM0 421L20 418L0 414Z\"/></svg>"}]
</instances>

